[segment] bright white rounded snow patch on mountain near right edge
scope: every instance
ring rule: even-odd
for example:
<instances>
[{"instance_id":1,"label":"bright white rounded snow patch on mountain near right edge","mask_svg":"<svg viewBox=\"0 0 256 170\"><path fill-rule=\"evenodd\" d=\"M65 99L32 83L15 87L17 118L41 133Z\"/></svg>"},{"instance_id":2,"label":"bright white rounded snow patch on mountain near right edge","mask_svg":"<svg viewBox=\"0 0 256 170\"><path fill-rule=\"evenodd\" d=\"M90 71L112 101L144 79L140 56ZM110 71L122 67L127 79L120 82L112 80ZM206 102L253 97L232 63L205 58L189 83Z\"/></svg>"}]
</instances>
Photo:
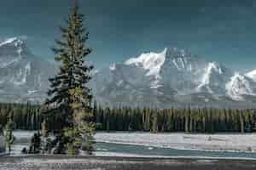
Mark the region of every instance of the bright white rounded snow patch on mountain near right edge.
<instances>
[{"instance_id":1,"label":"bright white rounded snow patch on mountain near right edge","mask_svg":"<svg viewBox=\"0 0 256 170\"><path fill-rule=\"evenodd\" d=\"M226 90L230 98L235 100L244 100L243 94L255 95L251 80L239 73L230 78L230 82L226 84Z\"/></svg>"}]
</instances>

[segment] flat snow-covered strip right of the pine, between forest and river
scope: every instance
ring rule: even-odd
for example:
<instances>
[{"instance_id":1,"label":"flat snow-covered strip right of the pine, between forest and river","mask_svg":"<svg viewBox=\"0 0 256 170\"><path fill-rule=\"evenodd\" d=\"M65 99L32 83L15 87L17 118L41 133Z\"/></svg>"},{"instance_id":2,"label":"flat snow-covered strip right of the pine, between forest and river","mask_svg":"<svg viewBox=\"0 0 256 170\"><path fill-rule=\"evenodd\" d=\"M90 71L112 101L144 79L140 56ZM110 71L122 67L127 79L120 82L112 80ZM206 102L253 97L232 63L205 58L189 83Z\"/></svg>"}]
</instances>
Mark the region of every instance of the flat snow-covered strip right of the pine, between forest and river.
<instances>
[{"instance_id":1,"label":"flat snow-covered strip right of the pine, between forest and river","mask_svg":"<svg viewBox=\"0 0 256 170\"><path fill-rule=\"evenodd\" d=\"M254 133L96 133L96 142L137 144L178 150L256 152L256 134Z\"/></svg>"}]
</instances>

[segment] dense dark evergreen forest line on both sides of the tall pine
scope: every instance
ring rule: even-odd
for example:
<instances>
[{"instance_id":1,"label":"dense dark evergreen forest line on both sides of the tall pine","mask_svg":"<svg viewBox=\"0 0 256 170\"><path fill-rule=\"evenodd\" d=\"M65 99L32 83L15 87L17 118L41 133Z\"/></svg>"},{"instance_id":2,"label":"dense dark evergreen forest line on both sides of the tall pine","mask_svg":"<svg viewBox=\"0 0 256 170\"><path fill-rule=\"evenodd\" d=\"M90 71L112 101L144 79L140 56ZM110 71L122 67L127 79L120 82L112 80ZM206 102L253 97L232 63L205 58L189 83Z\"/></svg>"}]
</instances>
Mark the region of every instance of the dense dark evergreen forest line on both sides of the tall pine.
<instances>
[{"instance_id":1,"label":"dense dark evergreen forest line on both sides of the tall pine","mask_svg":"<svg viewBox=\"0 0 256 170\"><path fill-rule=\"evenodd\" d=\"M42 105L0 104L0 124L13 115L15 129L39 130L43 122ZM256 110L213 108L152 109L93 105L93 122L98 131L143 131L151 133L253 133ZM55 116L51 122L58 122ZM57 123L51 123L55 128Z\"/></svg>"}]
</instances>

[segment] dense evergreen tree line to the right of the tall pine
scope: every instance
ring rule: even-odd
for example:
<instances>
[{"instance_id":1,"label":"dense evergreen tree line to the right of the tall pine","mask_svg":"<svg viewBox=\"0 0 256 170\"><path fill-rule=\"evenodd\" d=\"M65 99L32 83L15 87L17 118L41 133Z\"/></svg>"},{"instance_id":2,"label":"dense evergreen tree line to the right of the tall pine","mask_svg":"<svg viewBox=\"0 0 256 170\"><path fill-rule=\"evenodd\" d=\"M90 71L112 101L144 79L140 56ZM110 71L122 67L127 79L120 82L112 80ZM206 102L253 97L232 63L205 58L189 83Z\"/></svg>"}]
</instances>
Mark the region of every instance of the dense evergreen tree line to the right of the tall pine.
<instances>
[{"instance_id":1,"label":"dense evergreen tree line to the right of the tall pine","mask_svg":"<svg viewBox=\"0 0 256 170\"><path fill-rule=\"evenodd\" d=\"M94 106L96 129L151 133L252 133L256 110L213 108L150 109Z\"/></svg>"}]
</instances>

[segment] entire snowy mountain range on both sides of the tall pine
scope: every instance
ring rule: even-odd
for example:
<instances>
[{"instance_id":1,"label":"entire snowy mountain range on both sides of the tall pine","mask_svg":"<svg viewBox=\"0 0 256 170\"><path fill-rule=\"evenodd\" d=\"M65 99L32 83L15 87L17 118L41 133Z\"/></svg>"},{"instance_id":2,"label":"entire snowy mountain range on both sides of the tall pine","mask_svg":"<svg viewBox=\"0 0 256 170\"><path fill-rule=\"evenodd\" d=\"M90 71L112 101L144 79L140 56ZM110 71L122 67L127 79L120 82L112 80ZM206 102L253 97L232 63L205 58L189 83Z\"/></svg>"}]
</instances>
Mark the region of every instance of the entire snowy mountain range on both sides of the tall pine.
<instances>
[{"instance_id":1,"label":"entire snowy mountain range on both sides of the tall pine","mask_svg":"<svg viewBox=\"0 0 256 170\"><path fill-rule=\"evenodd\" d=\"M43 102L56 68L33 55L22 38L0 41L0 101ZM143 53L92 77L90 88L106 106L256 106L256 70L241 74L178 48Z\"/></svg>"}]
</instances>

